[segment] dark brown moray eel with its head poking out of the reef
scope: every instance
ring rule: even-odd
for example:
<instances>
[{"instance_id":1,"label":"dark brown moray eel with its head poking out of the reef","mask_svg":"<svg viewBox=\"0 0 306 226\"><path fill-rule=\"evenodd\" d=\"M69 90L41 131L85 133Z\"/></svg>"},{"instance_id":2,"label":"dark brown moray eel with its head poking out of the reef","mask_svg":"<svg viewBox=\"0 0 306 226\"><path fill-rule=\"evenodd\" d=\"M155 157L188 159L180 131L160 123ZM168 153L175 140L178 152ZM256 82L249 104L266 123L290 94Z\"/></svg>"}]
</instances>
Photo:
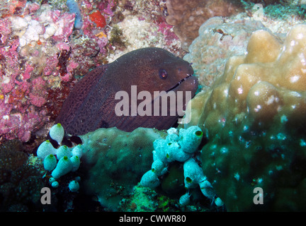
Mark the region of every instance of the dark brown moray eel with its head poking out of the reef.
<instances>
[{"instance_id":1,"label":"dark brown moray eel with its head poking out of the reef","mask_svg":"<svg viewBox=\"0 0 306 226\"><path fill-rule=\"evenodd\" d=\"M152 105L157 100L154 98L154 91L166 91L166 93L174 91L175 95L178 91L183 91L181 93L188 91L193 97L198 88L198 79L192 75L191 64L164 49L154 47L136 49L111 64L97 67L81 78L69 93L55 123L62 124L66 133L75 136L113 126L123 131L132 131L137 127L169 129L179 118L178 112L171 115L168 109L166 115L154 115L152 107L152 116L132 115L132 100L135 99L132 99L134 92L132 88L137 88L137 94L141 91L149 92L152 100L148 98L148 102ZM123 97L115 98L119 91L129 95L128 115L118 116L115 112L115 107L123 100ZM139 99L133 102L137 106L146 100L145 97ZM184 109L185 100L184 97ZM159 105L161 102L159 101ZM147 110L147 107L143 109Z\"/></svg>"}]
</instances>

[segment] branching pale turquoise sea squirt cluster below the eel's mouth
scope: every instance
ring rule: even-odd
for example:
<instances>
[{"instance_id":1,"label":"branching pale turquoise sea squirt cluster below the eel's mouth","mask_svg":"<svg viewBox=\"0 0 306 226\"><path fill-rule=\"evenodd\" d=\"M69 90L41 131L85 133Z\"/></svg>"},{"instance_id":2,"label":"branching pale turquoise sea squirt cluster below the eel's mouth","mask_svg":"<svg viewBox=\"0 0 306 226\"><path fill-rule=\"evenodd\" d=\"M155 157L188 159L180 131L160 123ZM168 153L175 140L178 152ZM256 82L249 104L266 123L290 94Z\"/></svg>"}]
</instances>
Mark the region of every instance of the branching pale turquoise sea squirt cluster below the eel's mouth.
<instances>
[{"instance_id":1,"label":"branching pale turquoise sea squirt cluster below the eel's mouth","mask_svg":"<svg viewBox=\"0 0 306 226\"><path fill-rule=\"evenodd\" d=\"M196 162L196 156L193 156L203 138L203 132L200 127L190 126L188 129L180 129L179 134L177 134L177 129L171 128L167 133L166 139L154 141L154 150L152 152L154 162L152 163L152 168L142 176L140 184L151 189L157 188L161 184L159 177L164 177L168 172L169 163L179 161L183 162L184 184L185 188L188 189L187 193L180 198L181 205L185 206L188 203L191 196L190 189L195 189L198 186L200 186L200 191L204 196L214 201L215 191L204 176L198 162ZM176 181L178 182L179 178L176 178ZM168 183L163 183L162 187L169 190L167 189L169 186L166 184L179 185L171 182L172 180L168 177Z\"/></svg>"}]
</instances>

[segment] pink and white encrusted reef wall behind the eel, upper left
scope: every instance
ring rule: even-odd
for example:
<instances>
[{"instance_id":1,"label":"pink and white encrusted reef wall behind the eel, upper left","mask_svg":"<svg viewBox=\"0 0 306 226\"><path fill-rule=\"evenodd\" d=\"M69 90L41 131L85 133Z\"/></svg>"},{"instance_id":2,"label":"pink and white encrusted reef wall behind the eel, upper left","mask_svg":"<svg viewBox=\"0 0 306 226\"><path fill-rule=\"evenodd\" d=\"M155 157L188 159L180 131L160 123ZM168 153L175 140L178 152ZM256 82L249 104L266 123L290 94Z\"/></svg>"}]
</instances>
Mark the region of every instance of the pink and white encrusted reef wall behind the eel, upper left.
<instances>
[{"instance_id":1,"label":"pink and white encrusted reef wall behind the eel, upper left","mask_svg":"<svg viewBox=\"0 0 306 226\"><path fill-rule=\"evenodd\" d=\"M177 54L179 42L165 22L164 5L114 0L1 2L0 143L45 135L76 81L123 51L159 46Z\"/></svg>"}]
</instances>

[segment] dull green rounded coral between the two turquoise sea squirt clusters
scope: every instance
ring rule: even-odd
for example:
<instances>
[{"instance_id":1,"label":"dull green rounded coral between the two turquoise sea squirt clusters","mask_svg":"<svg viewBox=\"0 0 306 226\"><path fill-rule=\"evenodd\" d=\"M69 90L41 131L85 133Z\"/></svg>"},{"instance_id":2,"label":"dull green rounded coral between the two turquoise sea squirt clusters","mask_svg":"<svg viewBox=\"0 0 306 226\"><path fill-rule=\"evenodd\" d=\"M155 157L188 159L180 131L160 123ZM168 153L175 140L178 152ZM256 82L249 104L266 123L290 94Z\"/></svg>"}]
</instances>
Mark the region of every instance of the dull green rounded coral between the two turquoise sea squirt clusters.
<instances>
[{"instance_id":1,"label":"dull green rounded coral between the two turquoise sea squirt clusters","mask_svg":"<svg viewBox=\"0 0 306 226\"><path fill-rule=\"evenodd\" d=\"M120 200L152 162L152 143L163 137L162 131L138 128L131 133L116 128L98 129L81 136L81 158L87 175L82 181L86 194L98 196L109 210L117 210Z\"/></svg>"}]
</instances>

